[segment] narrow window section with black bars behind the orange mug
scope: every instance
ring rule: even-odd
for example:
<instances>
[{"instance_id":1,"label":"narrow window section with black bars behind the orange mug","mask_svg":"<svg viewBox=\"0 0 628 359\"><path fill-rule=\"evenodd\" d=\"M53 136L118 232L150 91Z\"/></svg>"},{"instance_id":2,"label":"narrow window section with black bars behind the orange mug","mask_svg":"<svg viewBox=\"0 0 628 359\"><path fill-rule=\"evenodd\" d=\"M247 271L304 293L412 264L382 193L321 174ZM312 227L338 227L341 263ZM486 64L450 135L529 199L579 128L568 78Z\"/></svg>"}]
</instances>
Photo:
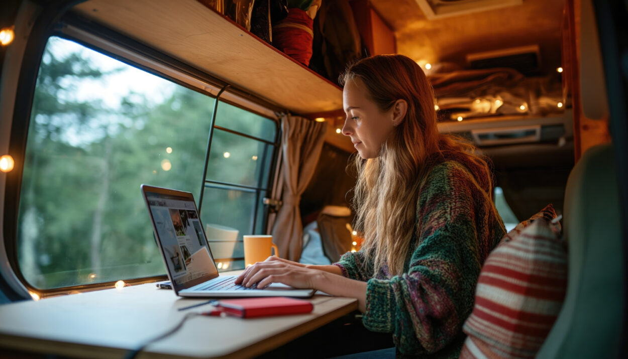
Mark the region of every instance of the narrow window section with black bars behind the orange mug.
<instances>
[{"instance_id":1,"label":"narrow window section with black bars behind the orange mug","mask_svg":"<svg viewBox=\"0 0 628 359\"><path fill-rule=\"evenodd\" d=\"M200 217L222 270L243 269L242 235L264 232L262 200L277 130L274 122L263 119L219 102Z\"/></svg>"}]
</instances>

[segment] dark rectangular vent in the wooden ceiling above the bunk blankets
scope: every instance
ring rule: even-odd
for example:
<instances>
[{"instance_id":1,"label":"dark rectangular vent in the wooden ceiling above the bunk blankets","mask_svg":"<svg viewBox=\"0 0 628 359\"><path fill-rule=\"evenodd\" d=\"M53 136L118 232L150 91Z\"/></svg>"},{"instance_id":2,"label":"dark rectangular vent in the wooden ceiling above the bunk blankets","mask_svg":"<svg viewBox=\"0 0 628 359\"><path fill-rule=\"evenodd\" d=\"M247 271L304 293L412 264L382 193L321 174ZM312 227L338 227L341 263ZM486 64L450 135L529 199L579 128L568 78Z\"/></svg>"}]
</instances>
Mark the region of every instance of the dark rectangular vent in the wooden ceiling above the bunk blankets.
<instances>
[{"instance_id":1,"label":"dark rectangular vent in the wooden ceiling above the bunk blankets","mask_svg":"<svg viewBox=\"0 0 628 359\"><path fill-rule=\"evenodd\" d=\"M521 73L534 73L541 70L538 45L470 53L467 55L467 62L470 68L508 67Z\"/></svg>"}]
</instances>

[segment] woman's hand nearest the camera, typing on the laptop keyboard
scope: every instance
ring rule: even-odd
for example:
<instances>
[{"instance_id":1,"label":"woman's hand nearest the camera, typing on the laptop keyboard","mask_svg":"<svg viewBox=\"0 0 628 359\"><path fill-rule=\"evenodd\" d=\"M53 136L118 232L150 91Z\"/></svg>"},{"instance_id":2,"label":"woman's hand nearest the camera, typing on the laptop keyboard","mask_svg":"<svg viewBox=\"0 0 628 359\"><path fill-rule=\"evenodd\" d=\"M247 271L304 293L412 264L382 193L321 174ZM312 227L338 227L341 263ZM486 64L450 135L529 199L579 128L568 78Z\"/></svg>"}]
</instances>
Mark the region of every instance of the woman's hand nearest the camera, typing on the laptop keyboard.
<instances>
[{"instance_id":1,"label":"woman's hand nearest the camera, typing on the laptop keyboard","mask_svg":"<svg viewBox=\"0 0 628 359\"><path fill-rule=\"evenodd\" d=\"M250 287L257 283L258 288L263 288L271 283L283 283L295 288L315 288L318 278L325 272L318 269L310 269L305 264L292 262L279 257L268 257L264 262L257 262L236 278L236 284Z\"/></svg>"}]
</instances>

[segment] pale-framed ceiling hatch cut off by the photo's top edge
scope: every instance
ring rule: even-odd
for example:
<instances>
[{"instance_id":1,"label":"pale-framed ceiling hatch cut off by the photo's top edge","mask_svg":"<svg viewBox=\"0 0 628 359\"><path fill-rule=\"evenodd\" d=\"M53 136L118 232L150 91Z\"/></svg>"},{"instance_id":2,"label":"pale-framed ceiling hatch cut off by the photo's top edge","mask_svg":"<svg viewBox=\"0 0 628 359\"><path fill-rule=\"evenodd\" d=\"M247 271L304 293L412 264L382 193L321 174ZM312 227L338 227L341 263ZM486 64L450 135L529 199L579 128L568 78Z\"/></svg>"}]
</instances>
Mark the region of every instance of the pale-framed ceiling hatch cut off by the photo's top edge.
<instances>
[{"instance_id":1,"label":"pale-framed ceiling hatch cut off by the photo's top edge","mask_svg":"<svg viewBox=\"0 0 628 359\"><path fill-rule=\"evenodd\" d=\"M523 0L416 0L416 3L431 20L521 5Z\"/></svg>"}]
</instances>

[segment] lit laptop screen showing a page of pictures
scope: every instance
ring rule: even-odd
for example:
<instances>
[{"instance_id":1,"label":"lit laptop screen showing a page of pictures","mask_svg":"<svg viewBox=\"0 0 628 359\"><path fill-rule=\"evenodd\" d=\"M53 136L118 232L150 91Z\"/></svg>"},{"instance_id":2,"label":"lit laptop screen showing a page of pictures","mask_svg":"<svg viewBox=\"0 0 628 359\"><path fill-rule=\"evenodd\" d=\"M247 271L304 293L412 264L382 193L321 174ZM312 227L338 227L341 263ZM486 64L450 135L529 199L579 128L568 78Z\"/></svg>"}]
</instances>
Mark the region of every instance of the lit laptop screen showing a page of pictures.
<instances>
[{"instance_id":1,"label":"lit laptop screen showing a page of pictures","mask_svg":"<svg viewBox=\"0 0 628 359\"><path fill-rule=\"evenodd\" d=\"M217 277L192 193L142 188L176 292Z\"/></svg>"}]
</instances>

